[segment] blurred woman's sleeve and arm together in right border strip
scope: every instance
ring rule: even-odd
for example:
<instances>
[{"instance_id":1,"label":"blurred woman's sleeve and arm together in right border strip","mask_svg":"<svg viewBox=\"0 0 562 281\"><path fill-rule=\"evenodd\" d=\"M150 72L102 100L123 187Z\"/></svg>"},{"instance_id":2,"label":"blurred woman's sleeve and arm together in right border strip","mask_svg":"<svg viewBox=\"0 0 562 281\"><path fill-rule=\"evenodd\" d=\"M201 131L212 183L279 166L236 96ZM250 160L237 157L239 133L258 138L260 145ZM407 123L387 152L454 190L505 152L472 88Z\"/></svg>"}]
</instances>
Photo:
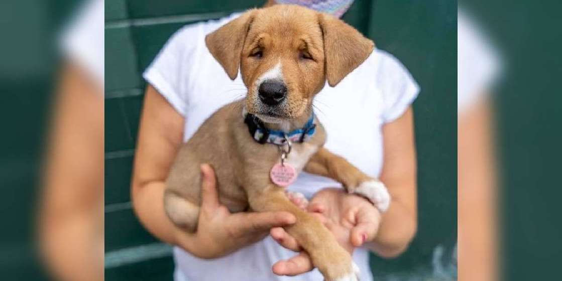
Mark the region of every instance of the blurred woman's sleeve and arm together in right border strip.
<instances>
[{"instance_id":1,"label":"blurred woman's sleeve and arm together in right border strip","mask_svg":"<svg viewBox=\"0 0 562 281\"><path fill-rule=\"evenodd\" d=\"M489 93L501 74L501 61L482 29L461 8L457 18L458 250L463 263L459 280L493 281L500 275L493 103Z\"/></svg>"}]
</instances>

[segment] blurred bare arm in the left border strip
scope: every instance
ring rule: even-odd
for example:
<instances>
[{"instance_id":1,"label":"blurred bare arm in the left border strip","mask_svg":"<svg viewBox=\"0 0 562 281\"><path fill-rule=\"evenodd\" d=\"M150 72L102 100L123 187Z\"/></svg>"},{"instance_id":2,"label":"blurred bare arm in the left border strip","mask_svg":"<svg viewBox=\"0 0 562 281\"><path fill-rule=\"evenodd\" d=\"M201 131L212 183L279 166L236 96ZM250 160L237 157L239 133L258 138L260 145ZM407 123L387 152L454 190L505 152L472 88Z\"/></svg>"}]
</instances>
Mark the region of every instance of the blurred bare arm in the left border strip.
<instances>
[{"instance_id":1,"label":"blurred bare arm in the left border strip","mask_svg":"<svg viewBox=\"0 0 562 281\"><path fill-rule=\"evenodd\" d=\"M44 261L57 280L100 280L103 88L72 63L59 87L39 214Z\"/></svg>"}]
</instances>

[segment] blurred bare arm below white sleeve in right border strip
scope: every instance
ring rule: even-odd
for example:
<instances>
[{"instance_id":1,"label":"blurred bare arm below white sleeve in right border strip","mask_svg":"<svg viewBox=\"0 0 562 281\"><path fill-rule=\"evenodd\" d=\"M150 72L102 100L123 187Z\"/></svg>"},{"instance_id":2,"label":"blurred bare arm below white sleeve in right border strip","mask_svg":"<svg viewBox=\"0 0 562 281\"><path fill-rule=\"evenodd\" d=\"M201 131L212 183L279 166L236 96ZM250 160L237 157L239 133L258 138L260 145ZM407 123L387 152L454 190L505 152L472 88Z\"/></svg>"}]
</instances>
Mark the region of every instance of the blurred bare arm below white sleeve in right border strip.
<instances>
[{"instance_id":1,"label":"blurred bare arm below white sleeve in right border strip","mask_svg":"<svg viewBox=\"0 0 562 281\"><path fill-rule=\"evenodd\" d=\"M457 123L458 251L462 256L459 280L498 279L495 130L491 103L490 98L483 98L466 108Z\"/></svg>"}]
</instances>

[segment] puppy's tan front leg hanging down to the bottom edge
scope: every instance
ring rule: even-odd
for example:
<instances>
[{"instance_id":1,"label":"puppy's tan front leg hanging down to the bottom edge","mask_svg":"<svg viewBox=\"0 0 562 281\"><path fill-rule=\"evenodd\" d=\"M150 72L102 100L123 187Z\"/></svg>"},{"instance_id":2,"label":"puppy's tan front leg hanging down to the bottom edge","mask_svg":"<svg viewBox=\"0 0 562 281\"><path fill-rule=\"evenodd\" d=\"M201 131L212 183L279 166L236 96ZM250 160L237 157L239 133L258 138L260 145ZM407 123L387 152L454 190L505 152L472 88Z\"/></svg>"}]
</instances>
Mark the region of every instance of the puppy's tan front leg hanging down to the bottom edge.
<instances>
[{"instance_id":1,"label":"puppy's tan front leg hanging down to the bottom edge","mask_svg":"<svg viewBox=\"0 0 562 281\"><path fill-rule=\"evenodd\" d=\"M297 223L285 230L309 253L312 264L326 281L359 280L359 269L350 254L339 246L334 235L318 219L289 201L283 188L271 186L248 194L248 199L255 211L287 211L297 217Z\"/></svg>"}]
</instances>

